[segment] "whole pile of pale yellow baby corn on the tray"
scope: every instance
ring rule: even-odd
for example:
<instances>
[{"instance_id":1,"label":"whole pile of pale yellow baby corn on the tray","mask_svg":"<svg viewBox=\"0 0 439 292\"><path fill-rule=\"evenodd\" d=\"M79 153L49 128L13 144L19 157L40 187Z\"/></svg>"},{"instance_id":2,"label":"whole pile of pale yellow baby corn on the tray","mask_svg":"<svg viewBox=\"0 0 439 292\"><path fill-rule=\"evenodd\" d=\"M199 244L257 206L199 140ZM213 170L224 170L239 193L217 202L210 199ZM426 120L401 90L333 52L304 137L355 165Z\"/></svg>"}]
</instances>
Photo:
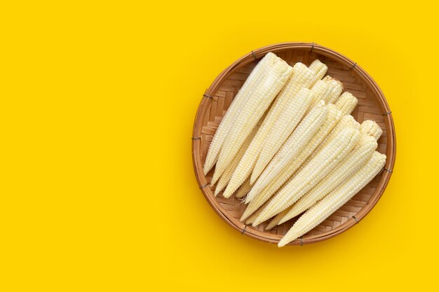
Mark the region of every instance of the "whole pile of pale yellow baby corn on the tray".
<instances>
[{"instance_id":1,"label":"whole pile of pale yellow baby corn on the tray","mask_svg":"<svg viewBox=\"0 0 439 292\"><path fill-rule=\"evenodd\" d=\"M270 230L303 213L278 246L323 222L386 162L375 151L381 128L354 120L358 100L326 71L319 60L290 67L266 54L222 118L205 159L204 174L215 165L215 195L235 194L248 204L246 224L271 219Z\"/></svg>"}]
</instances>

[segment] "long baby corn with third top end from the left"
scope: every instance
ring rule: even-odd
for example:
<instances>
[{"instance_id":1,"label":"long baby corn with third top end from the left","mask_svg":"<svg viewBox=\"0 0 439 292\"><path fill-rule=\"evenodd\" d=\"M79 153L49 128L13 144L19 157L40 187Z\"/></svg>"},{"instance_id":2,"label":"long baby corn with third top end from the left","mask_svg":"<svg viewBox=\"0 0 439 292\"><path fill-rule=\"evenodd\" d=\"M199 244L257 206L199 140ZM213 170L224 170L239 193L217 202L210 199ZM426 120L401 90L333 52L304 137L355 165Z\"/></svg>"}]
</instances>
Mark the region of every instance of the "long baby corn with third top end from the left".
<instances>
[{"instance_id":1,"label":"long baby corn with third top end from the left","mask_svg":"<svg viewBox=\"0 0 439 292\"><path fill-rule=\"evenodd\" d=\"M245 179L250 176L253 167L255 167L257 157L262 150L264 140L285 109L285 106L295 97L301 88L309 88L315 79L315 74L313 74L313 71L309 70L308 67L302 63L295 64L292 68L292 76L271 105L255 138L250 143L250 146L248 146L247 151L245 151L234 174L232 174L229 184L226 190L224 190L224 195L230 196L241 186Z\"/></svg>"}]
</instances>

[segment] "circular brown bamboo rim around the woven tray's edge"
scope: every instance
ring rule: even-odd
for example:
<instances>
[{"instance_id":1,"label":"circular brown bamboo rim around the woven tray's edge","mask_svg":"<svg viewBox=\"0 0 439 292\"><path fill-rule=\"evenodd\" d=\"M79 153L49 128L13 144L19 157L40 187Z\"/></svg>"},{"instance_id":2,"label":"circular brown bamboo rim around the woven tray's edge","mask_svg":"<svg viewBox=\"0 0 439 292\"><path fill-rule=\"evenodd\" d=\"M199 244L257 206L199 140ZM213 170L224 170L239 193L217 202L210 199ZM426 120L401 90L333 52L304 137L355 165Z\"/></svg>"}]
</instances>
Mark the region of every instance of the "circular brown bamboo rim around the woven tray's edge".
<instances>
[{"instance_id":1,"label":"circular brown bamboo rim around the woven tray's edge","mask_svg":"<svg viewBox=\"0 0 439 292\"><path fill-rule=\"evenodd\" d=\"M255 60L259 60L264 57L266 53L273 52L276 53L281 50L287 49L295 49L295 50L310 50L310 52L318 53L319 55L323 55L325 57L330 57L337 62L344 64L346 67L350 67L351 70L354 70L356 74L361 78L361 80L367 85L370 90L377 97L377 103L381 107L382 114L384 116L384 123L386 125L387 130L387 146L386 146L386 165L384 166L384 174L381 176L377 188L374 190L370 198L370 202L365 205L356 216L349 218L348 221L342 223L332 230L322 232L319 235L306 235L305 237L301 237L296 239L293 242L290 242L288 245L304 245L311 244L316 242L321 242L325 239L329 239L331 237L335 237L340 233L349 230L353 225L356 225L361 219L363 219L377 204L381 195L384 193L387 184L391 178L393 173L393 167L396 161L396 133L395 133L395 125L393 123L393 116L391 110L389 108L389 104L387 103L386 98L384 97L384 93L379 88L379 85L374 81L372 76L367 74L367 72L361 68L356 62L353 62L348 57L342 55L341 53L336 52L330 48L326 48L325 46L320 46L317 43L306 43L306 42L286 42L286 43L276 43L269 46L264 46L262 48L258 48L256 50L250 51L243 55L243 57L238 58L235 62L229 65L226 69L224 69L215 80L212 82L210 87L205 90L203 97L212 96L219 85L221 85L222 81L227 78L230 74L232 74L238 67L243 67L250 62L254 62ZM222 207L219 205L219 202L215 199L215 196L210 191L208 186L208 181L203 174L203 165L201 163L201 155L200 155L200 146L201 139L197 137L201 137L201 113L204 112L205 107L208 106L211 99L203 98L201 99L201 103L198 106L198 110L196 112L196 117L194 120L194 129L192 133L192 162L194 165L194 172L196 179L198 181L198 186L208 201L212 209L229 225L231 225L234 229L241 232L241 234L248 235L255 239L262 240L264 242L269 242L273 244L277 244L279 240L281 240L282 235L271 234L268 232L261 232L259 230L255 230L253 228L248 228L247 225L238 221L236 218L233 218L227 211L223 212Z\"/></svg>"}]
</instances>

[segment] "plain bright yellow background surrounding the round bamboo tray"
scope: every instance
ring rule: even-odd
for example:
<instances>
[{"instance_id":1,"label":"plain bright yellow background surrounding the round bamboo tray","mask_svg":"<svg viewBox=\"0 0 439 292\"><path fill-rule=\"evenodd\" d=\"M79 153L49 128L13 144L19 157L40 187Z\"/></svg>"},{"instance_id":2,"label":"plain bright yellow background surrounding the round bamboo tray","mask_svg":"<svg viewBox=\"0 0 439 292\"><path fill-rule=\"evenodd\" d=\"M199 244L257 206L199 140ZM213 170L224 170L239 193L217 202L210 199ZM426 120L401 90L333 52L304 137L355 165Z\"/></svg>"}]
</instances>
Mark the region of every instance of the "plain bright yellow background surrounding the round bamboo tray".
<instances>
[{"instance_id":1,"label":"plain bright yellow background surrounding the round bamboo tray","mask_svg":"<svg viewBox=\"0 0 439 292\"><path fill-rule=\"evenodd\" d=\"M1 291L437 288L437 8L424 1L1 4ZM250 50L314 41L384 91L398 151L354 228L242 236L198 189L201 95Z\"/></svg>"}]
</instances>

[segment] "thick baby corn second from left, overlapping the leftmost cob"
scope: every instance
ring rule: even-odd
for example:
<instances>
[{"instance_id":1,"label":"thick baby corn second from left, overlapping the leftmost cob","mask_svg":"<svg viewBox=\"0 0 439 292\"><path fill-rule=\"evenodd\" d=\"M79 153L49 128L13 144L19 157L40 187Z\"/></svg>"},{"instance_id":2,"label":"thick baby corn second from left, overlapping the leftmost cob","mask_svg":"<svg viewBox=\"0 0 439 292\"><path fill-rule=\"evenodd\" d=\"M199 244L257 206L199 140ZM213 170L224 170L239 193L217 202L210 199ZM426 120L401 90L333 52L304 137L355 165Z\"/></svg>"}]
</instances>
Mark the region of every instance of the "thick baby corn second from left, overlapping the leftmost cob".
<instances>
[{"instance_id":1,"label":"thick baby corn second from left, overlapping the leftmost cob","mask_svg":"<svg viewBox=\"0 0 439 292\"><path fill-rule=\"evenodd\" d=\"M231 160L234 159L259 118L264 115L264 112L281 91L291 74L292 67L281 58L277 58L266 70L266 76L255 85L248 101L245 102L238 115L236 115L219 152L215 167L215 172L219 172L218 175L221 175L231 163Z\"/></svg>"}]
</instances>

